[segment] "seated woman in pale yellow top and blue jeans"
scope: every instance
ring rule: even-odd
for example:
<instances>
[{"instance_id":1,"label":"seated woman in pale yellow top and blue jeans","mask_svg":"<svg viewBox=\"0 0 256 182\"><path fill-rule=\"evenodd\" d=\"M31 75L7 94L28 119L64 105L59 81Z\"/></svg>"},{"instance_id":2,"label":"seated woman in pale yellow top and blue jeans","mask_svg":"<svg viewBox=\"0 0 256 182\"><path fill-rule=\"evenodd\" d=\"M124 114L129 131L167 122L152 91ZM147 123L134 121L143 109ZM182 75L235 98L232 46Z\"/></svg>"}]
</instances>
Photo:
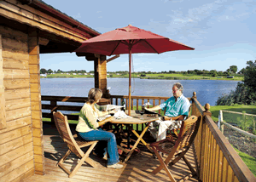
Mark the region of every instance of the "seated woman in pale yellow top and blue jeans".
<instances>
[{"instance_id":1,"label":"seated woman in pale yellow top and blue jeans","mask_svg":"<svg viewBox=\"0 0 256 182\"><path fill-rule=\"evenodd\" d=\"M119 164L119 154L114 134L103 131L98 127L109 122L113 117L108 117L101 122L97 122L98 117L108 115L113 111L99 111L96 109L96 103L102 98L102 90L99 88L91 88L88 94L88 100L85 102L79 114L79 123L76 127L78 135L85 140L99 140L96 145L95 153L97 156L104 156L107 151L108 162L107 168L123 168Z\"/></svg>"}]
</instances>

